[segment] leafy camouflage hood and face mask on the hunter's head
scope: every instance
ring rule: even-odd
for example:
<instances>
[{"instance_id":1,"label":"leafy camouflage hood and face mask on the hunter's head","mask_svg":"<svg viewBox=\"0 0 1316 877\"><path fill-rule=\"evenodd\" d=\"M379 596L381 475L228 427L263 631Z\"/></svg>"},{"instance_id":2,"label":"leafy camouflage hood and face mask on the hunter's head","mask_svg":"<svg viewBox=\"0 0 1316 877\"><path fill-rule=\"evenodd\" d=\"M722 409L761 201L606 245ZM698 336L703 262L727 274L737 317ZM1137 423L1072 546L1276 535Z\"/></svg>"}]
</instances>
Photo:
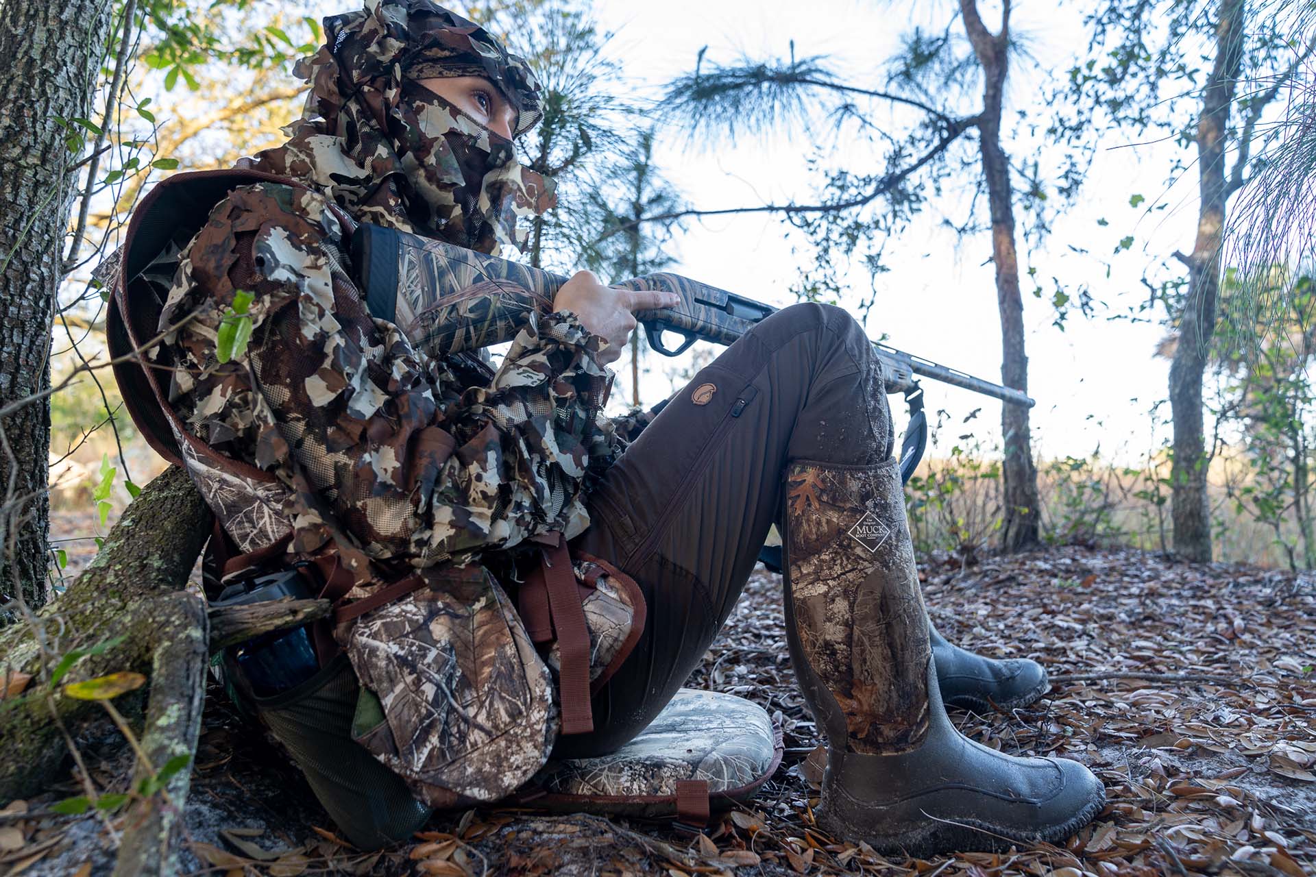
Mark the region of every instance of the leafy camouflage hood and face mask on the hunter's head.
<instances>
[{"instance_id":1,"label":"leafy camouflage hood and face mask on the hunter's head","mask_svg":"<svg viewBox=\"0 0 1316 877\"><path fill-rule=\"evenodd\" d=\"M488 79L520 135L542 114L525 59L432 0L366 0L324 24L325 45L295 68L311 83L301 118L254 167L300 179L365 222L495 255L524 249L524 220L553 206L551 183L516 160L512 141L416 80Z\"/></svg>"}]
</instances>

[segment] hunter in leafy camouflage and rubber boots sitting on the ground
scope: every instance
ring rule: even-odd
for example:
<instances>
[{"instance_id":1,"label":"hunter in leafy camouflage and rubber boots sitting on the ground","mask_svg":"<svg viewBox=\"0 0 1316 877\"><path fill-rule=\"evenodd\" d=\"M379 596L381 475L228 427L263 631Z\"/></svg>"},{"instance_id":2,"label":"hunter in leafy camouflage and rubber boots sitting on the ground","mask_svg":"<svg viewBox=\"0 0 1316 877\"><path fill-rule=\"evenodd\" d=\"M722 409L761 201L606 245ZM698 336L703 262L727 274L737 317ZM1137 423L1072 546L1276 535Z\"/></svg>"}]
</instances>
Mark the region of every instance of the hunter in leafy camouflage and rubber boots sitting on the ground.
<instances>
[{"instance_id":1,"label":"hunter in leafy camouflage and rubber boots sitting on the ground","mask_svg":"<svg viewBox=\"0 0 1316 877\"><path fill-rule=\"evenodd\" d=\"M791 657L829 751L820 824L930 855L1091 819L1104 797L1086 768L987 749L946 717L944 690L1021 705L1046 677L929 630L858 323L786 308L657 417L612 422L607 364L666 293L582 272L544 308L474 287L374 318L351 281L357 224L495 254L553 204L513 153L538 85L429 0L367 0L325 25L288 142L182 249L150 360L171 369L175 438L228 540L312 561L336 601L321 675L254 706L340 827L378 845L424 820L416 798L497 799L550 753L634 738L774 522ZM250 344L220 363L249 298ZM424 330L445 308L475 321L466 343L490 321L516 329L496 371Z\"/></svg>"}]
</instances>

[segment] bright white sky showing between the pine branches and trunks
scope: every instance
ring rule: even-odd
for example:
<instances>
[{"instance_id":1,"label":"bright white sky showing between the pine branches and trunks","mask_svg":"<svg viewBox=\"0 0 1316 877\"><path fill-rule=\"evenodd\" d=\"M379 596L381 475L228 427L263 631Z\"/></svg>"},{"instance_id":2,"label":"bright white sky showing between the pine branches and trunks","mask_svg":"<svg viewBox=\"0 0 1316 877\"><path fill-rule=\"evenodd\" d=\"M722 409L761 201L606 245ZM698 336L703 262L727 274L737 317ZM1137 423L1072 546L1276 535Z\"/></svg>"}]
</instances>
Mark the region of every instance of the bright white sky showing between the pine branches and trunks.
<instances>
[{"instance_id":1,"label":"bright white sky showing between the pine branches and trunks","mask_svg":"<svg viewBox=\"0 0 1316 877\"><path fill-rule=\"evenodd\" d=\"M624 57L626 71L641 78L641 87L657 87L690 70L704 45L708 59L732 60L741 53L784 55L792 38L797 55L830 55L838 70L869 72L873 78L867 82L880 87L874 74L896 45L899 33L912 24L936 24L949 13L946 0L919 4L597 0L595 8L603 25L617 32L612 49ZM916 21L913 14L924 17ZM984 17L990 14L984 9ZM1073 8L1016 4L1015 18L1016 32L1030 33L1030 51L1042 68L1063 71L1083 49ZM1046 85L1044 75L1028 67L1019 68L1012 83L1007 120L1013 117L1013 109L1030 109L1029 101ZM809 178L803 162L809 145L809 134L800 130L716 153L687 150L676 138L669 138L658 160L699 208L754 205L808 197ZM1034 447L1048 458L1083 456L1100 446L1107 456L1133 459L1152 442L1148 409L1165 397L1169 372L1167 360L1154 356L1163 329L1111 322L1104 316L1124 313L1145 300L1142 272L1175 249L1192 246L1195 179L1165 189L1173 153L1169 146L1133 147L1124 135L1111 135L1076 206L1055 224L1042 249L1021 252L1023 266L1037 268L1048 296L1051 276L1070 285L1086 280L1095 297L1109 306L1099 309L1094 320L1071 316L1061 331L1051 325L1054 310L1049 301L1028 295L1030 284L1024 277L1029 392L1037 400ZM1026 155L1012 158L1020 162ZM1132 193L1144 195L1148 204L1130 208ZM1169 206L1146 212L1157 201ZM951 218L962 218L962 210L955 209L959 205L945 206ZM926 221L887 247L891 272L878 279L879 306L869 321L870 334L886 333L895 347L999 383L1000 329L992 267L987 262L990 239L978 235L958 241L938 227L940 218L940 213L929 213ZM1099 226L1099 218L1109 225ZM765 216L694 222L678 241L679 260L671 270L771 304L788 304L792 301L788 287L797 276L801 258L792 254L792 245L801 241L790 231L780 220ZM1136 237L1134 247L1111 258L1107 277L1104 262L1126 234ZM1092 255L1074 254L1070 245ZM803 258L808 258L807 252ZM853 283L855 289L866 289L867 272L862 268L854 272ZM661 373L665 366L666 362L659 363L658 373L644 385L646 404L667 393L670 384ZM617 363L617 391L625 388L629 397L626 359ZM999 434L995 401L932 381L925 381L925 389L932 410L945 408L963 417L984 406L973 429L979 437L987 430ZM892 400L894 406L898 402L899 398ZM953 440L962 431L967 430L948 427L944 438Z\"/></svg>"}]
</instances>

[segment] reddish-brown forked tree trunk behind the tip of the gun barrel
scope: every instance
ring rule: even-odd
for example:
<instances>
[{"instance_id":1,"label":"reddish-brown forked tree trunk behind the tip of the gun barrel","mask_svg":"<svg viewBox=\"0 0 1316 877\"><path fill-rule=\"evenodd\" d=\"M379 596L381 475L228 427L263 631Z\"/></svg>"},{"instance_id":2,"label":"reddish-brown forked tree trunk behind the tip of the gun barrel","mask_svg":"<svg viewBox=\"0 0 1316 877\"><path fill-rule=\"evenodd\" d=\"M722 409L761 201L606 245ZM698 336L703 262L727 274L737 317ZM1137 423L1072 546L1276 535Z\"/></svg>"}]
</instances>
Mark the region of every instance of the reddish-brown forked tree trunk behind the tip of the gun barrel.
<instances>
[{"instance_id":1,"label":"reddish-brown forked tree trunk behind the tip of the gun barrel","mask_svg":"<svg viewBox=\"0 0 1316 877\"><path fill-rule=\"evenodd\" d=\"M992 34L978 14L975 0L961 0L965 30L983 68L983 109L978 117L987 202L991 208L992 262L996 268L996 308L1000 313L1000 376L1005 387L1028 392L1028 355L1024 351L1024 301L1019 293L1019 254L1015 246L1015 209L1009 159L1000 146L1001 101L1005 92L1009 46L1009 3L1001 12L1000 33ZM1038 544L1037 467L1033 464L1028 409L1001 405L1004 443L1004 521L1000 543L1005 551Z\"/></svg>"}]
</instances>

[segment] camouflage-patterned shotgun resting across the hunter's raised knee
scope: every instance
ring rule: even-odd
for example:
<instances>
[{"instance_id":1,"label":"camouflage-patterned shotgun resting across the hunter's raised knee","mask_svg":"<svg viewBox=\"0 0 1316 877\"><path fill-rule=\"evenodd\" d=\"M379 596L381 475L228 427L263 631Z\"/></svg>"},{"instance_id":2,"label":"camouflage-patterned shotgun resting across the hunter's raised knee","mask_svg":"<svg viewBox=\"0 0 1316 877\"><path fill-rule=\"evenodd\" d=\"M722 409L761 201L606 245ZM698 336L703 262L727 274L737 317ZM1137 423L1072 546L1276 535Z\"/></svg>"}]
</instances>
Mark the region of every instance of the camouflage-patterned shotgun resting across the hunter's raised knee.
<instances>
[{"instance_id":1,"label":"camouflage-patterned shotgun resting across the hunter's raised knee","mask_svg":"<svg viewBox=\"0 0 1316 877\"><path fill-rule=\"evenodd\" d=\"M566 277L442 241L363 224L353 233L351 263L371 316L400 326L432 354L455 354L511 341L526 312L553 310L553 295ZM665 356L696 341L730 344L776 308L675 273L653 273L617 284L663 289L680 296L675 308L641 310L649 346ZM529 291L529 296L526 296ZM663 333L682 337L667 347ZM915 393L916 377L1033 406L1025 393L874 342L888 393Z\"/></svg>"}]
</instances>

